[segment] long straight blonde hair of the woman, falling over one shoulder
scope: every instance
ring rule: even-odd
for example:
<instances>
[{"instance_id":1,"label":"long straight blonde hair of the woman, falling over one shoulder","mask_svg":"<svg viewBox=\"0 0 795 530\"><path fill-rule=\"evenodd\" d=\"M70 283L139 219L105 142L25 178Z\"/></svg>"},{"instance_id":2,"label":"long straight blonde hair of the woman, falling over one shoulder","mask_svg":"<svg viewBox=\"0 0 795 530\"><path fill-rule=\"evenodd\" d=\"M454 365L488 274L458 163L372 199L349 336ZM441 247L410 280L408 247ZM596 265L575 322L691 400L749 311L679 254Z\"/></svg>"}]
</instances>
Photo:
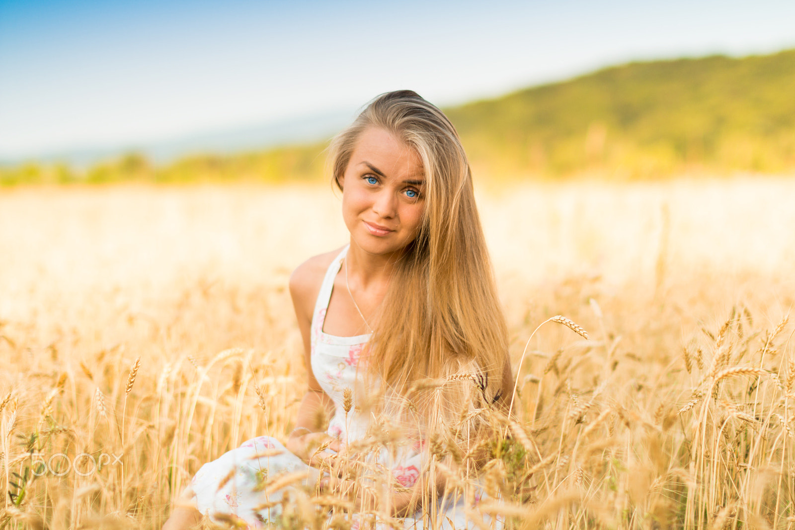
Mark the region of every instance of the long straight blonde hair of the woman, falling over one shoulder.
<instances>
[{"instance_id":1,"label":"long straight blonde hair of the woman, falling over one shoulder","mask_svg":"<svg viewBox=\"0 0 795 530\"><path fill-rule=\"evenodd\" d=\"M474 366L480 391L494 401L506 368L507 331L456 128L416 92L378 96L332 140L332 177L339 189L356 142L369 127L389 131L419 154L425 210L417 238L395 263L367 366L402 394L414 381Z\"/></svg>"}]
</instances>

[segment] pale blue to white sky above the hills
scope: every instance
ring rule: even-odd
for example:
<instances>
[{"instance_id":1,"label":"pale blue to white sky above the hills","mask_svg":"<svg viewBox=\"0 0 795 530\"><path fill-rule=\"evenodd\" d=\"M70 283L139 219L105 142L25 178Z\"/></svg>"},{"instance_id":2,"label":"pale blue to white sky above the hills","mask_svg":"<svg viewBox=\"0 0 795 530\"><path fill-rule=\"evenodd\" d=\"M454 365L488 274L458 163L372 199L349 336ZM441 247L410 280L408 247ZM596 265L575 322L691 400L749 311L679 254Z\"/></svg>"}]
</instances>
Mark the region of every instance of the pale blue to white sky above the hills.
<instances>
[{"instance_id":1,"label":"pale blue to white sky above the hills","mask_svg":"<svg viewBox=\"0 0 795 530\"><path fill-rule=\"evenodd\" d=\"M449 105L626 60L786 48L792 0L0 0L0 158L353 112L396 88Z\"/></svg>"}]
</instances>

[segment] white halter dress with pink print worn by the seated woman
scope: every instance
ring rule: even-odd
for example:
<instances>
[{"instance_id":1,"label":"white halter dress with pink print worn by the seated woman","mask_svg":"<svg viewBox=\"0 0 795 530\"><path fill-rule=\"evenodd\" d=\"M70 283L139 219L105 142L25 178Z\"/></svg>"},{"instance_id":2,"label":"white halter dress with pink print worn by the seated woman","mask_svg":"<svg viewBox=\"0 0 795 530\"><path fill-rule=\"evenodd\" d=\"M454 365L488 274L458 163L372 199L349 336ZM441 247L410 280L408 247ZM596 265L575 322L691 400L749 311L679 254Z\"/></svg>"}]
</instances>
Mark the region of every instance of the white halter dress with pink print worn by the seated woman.
<instances>
[{"instance_id":1,"label":"white halter dress with pink print worn by the seated woman","mask_svg":"<svg viewBox=\"0 0 795 530\"><path fill-rule=\"evenodd\" d=\"M328 435L339 438L343 443L361 438L368 427L366 417L356 412L355 388L357 386L357 366L359 355L370 335L356 337L336 337L324 333L323 324L328 309L328 301L332 296L335 276L339 273L347 248L332 261L328 267L320 293L317 295L315 310L312 314L311 328L311 361L312 372L324 392L335 404L335 415L328 425ZM347 414L343 410L343 391L351 388L354 391L353 408ZM281 454L262 456L263 452ZM428 451L424 442L417 442L409 450L402 451L398 458L390 457L389 452L382 451L382 463L386 465L396 481L404 487L411 487L417 481L426 462ZM235 470L234 475L231 473ZM225 513L245 520L249 528L263 528L269 524L279 524L283 490L266 495L257 488L263 480L273 478L281 473L308 471L304 484L314 485L320 471L309 467L295 454L290 453L281 442L270 436L251 438L241 446L228 451L217 460L201 466L192 478L190 489L196 507L215 520L214 514ZM480 495L476 495L479 501ZM263 508L263 505L271 505ZM464 516L463 499L445 497L437 503L440 513L433 519L440 528L477 528ZM488 521L488 517L485 517ZM351 516L351 528L359 528L359 517ZM364 526L364 525L363 525ZM378 527L382 527L378 524ZM430 528L429 518L425 521L422 510L405 519L405 528ZM387 528L384 526L383 528Z\"/></svg>"}]
</instances>

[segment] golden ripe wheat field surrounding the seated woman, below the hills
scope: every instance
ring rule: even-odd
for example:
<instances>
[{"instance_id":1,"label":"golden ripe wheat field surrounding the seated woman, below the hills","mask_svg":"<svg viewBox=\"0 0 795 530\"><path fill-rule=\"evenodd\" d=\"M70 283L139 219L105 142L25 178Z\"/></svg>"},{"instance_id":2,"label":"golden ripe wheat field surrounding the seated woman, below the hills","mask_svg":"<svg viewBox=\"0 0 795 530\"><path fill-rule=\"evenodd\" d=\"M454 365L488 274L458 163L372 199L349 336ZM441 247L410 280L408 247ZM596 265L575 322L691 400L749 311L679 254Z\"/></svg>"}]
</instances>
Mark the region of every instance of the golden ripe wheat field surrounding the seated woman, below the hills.
<instances>
[{"instance_id":1,"label":"golden ripe wheat field surrounding the seated woman, below the hills","mask_svg":"<svg viewBox=\"0 0 795 530\"><path fill-rule=\"evenodd\" d=\"M791 177L480 193L518 413L474 510L795 528L793 197ZM204 462L284 439L305 385L287 279L346 235L328 186L3 190L0 528L160 528ZM589 340L528 342L559 314ZM285 526L328 524L289 498Z\"/></svg>"}]
</instances>

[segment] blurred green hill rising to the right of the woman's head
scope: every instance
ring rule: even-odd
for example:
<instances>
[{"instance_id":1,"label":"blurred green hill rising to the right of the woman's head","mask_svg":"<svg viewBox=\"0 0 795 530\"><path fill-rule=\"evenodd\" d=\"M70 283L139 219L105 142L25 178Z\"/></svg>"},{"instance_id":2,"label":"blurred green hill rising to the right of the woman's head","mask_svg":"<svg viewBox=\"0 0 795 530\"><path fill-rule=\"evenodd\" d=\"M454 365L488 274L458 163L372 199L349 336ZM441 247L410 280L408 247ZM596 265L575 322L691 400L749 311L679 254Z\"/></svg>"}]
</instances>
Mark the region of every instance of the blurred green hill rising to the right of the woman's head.
<instances>
[{"instance_id":1,"label":"blurred green hill rising to the right of the woman's head","mask_svg":"<svg viewBox=\"0 0 795 530\"><path fill-rule=\"evenodd\" d=\"M446 111L498 174L793 170L795 50L624 64Z\"/></svg>"}]
</instances>

